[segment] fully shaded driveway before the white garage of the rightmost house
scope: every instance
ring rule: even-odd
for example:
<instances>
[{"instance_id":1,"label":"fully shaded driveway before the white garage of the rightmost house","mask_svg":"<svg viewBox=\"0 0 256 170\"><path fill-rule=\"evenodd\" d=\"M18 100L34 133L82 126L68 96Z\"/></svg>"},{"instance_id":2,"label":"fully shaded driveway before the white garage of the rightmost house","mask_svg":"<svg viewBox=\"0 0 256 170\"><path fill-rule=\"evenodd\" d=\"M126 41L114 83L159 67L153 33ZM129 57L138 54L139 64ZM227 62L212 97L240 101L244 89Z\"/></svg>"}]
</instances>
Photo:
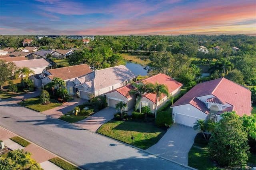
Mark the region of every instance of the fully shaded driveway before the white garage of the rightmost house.
<instances>
[{"instance_id":1,"label":"fully shaded driveway before the white garage of the rightmost house","mask_svg":"<svg viewBox=\"0 0 256 170\"><path fill-rule=\"evenodd\" d=\"M197 133L192 127L173 123L158 143L146 151L188 165L188 152Z\"/></svg>"}]
</instances>

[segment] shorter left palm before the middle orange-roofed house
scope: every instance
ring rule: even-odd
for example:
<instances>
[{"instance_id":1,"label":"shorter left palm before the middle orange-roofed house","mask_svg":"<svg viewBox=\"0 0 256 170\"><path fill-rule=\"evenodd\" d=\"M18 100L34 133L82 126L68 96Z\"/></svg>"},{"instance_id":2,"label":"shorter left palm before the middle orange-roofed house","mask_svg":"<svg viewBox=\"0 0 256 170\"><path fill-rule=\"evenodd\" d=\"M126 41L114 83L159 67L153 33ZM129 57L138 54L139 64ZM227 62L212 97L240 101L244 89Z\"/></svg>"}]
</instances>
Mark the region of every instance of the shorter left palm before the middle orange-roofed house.
<instances>
[{"instance_id":1,"label":"shorter left palm before the middle orange-roofed house","mask_svg":"<svg viewBox=\"0 0 256 170\"><path fill-rule=\"evenodd\" d=\"M136 95L136 105L135 105L135 109L138 108L138 106L140 106L140 113L141 113L141 99L142 99L142 95L144 95L145 93L147 93L149 91L148 87L146 86L146 84L143 83L134 83L132 84L133 87L135 87L135 89L131 89L129 91L129 95Z\"/></svg>"}]
</instances>

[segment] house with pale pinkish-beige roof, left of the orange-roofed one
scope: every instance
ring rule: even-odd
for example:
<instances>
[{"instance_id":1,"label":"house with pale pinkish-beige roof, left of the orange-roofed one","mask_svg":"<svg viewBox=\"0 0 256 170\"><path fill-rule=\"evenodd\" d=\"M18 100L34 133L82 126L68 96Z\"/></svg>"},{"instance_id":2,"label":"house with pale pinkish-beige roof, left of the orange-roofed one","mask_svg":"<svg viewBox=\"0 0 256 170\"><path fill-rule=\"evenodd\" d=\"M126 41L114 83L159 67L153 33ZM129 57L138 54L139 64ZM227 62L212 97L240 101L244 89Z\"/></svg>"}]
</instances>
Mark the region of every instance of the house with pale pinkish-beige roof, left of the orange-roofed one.
<instances>
[{"instance_id":1,"label":"house with pale pinkish-beige roof, left of the orange-roofed one","mask_svg":"<svg viewBox=\"0 0 256 170\"><path fill-rule=\"evenodd\" d=\"M89 95L94 96L103 95L109 91L122 87L131 83L136 79L135 75L130 69L124 65L118 65L101 70L95 70L92 73L78 77L72 80L78 89L79 95L82 99L89 99Z\"/></svg>"}]
</instances>

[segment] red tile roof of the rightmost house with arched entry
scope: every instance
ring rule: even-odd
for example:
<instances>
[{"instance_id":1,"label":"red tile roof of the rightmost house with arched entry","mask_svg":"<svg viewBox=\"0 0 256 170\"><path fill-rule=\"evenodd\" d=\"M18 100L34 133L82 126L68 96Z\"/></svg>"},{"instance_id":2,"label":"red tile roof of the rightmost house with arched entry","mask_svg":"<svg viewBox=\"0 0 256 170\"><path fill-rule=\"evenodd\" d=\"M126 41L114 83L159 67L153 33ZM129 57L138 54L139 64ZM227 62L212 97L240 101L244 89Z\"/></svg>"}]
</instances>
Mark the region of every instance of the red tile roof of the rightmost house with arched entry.
<instances>
[{"instance_id":1,"label":"red tile roof of the rightmost house with arched entry","mask_svg":"<svg viewBox=\"0 0 256 170\"><path fill-rule=\"evenodd\" d=\"M192 101L194 97L206 95L214 95L215 97L218 97L222 103L232 105L234 111L236 111L239 116L242 116L243 114L250 115L251 91L225 78L197 84L176 101L172 107L191 104L193 103ZM201 106L195 107L202 109ZM230 110L230 108L226 110Z\"/></svg>"}]
</instances>

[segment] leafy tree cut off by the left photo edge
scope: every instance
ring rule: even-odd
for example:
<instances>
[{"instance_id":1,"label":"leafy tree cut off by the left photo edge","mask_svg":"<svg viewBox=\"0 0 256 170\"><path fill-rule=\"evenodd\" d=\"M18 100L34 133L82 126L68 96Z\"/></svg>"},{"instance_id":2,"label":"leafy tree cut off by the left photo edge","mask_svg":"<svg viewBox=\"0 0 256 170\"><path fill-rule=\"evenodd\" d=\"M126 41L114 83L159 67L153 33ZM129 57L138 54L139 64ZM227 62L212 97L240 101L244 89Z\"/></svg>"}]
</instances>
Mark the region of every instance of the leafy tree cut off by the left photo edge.
<instances>
[{"instance_id":1,"label":"leafy tree cut off by the left photo edge","mask_svg":"<svg viewBox=\"0 0 256 170\"><path fill-rule=\"evenodd\" d=\"M4 83L11 79L14 70L16 70L16 65L13 62L6 63L0 59L0 89L3 89Z\"/></svg>"}]
</instances>

